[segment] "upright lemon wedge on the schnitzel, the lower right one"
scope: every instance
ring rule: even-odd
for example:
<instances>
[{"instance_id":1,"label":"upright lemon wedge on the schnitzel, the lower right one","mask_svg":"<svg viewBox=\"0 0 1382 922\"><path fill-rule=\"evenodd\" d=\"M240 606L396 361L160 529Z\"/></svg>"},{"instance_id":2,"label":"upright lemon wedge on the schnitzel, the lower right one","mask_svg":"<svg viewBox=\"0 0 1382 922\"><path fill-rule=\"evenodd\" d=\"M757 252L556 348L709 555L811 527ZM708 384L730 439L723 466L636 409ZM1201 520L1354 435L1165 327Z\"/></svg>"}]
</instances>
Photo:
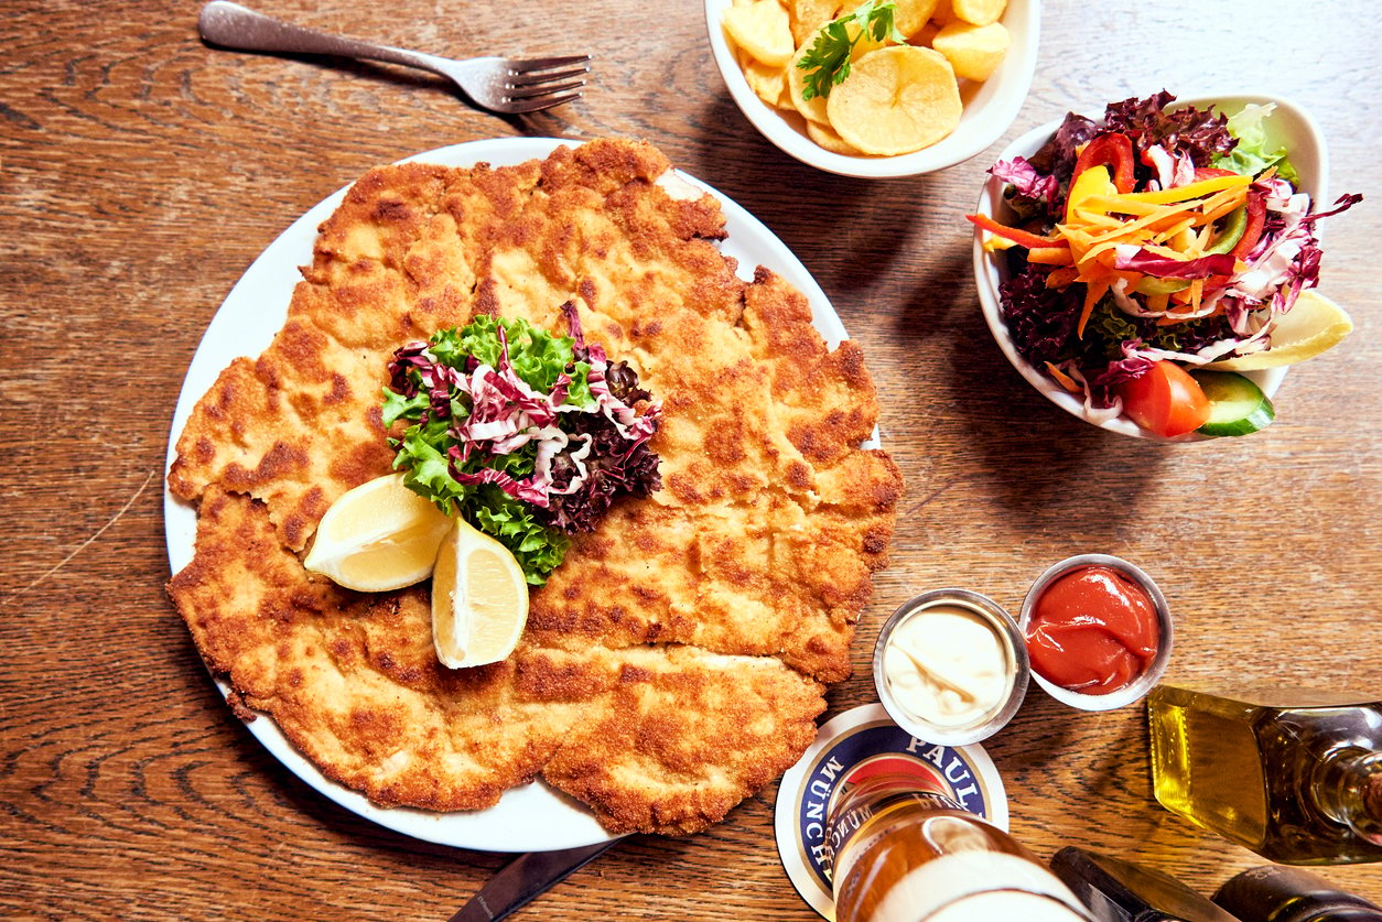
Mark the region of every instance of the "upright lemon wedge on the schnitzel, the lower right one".
<instances>
[{"instance_id":1,"label":"upright lemon wedge on the schnitzel, the lower right one","mask_svg":"<svg viewBox=\"0 0 1382 922\"><path fill-rule=\"evenodd\" d=\"M507 547L457 520L433 570L433 644L451 669L499 662L528 623L528 581Z\"/></svg>"}]
</instances>

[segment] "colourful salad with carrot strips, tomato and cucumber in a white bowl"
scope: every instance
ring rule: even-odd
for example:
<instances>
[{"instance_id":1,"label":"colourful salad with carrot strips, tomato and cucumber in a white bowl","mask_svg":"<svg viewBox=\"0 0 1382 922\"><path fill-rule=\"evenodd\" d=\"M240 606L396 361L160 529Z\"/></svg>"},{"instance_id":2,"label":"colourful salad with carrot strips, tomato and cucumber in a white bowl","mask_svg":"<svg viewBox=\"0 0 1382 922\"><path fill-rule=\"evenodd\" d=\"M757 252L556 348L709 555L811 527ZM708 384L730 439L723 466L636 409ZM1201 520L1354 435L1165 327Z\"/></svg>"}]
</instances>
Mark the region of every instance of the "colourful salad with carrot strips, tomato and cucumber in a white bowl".
<instances>
[{"instance_id":1,"label":"colourful salad with carrot strips, tomato and cucumber in a white bowl","mask_svg":"<svg viewBox=\"0 0 1382 922\"><path fill-rule=\"evenodd\" d=\"M1314 211L1289 152L1267 141L1271 106L1173 101L1114 102L1101 123L1067 115L1034 156L990 170L1017 220L969 218L1007 250L999 293L1017 351L1082 395L1090 419L1244 434L1271 422L1270 401L1204 369L1271 347L1318 282L1316 223L1363 196Z\"/></svg>"}]
</instances>

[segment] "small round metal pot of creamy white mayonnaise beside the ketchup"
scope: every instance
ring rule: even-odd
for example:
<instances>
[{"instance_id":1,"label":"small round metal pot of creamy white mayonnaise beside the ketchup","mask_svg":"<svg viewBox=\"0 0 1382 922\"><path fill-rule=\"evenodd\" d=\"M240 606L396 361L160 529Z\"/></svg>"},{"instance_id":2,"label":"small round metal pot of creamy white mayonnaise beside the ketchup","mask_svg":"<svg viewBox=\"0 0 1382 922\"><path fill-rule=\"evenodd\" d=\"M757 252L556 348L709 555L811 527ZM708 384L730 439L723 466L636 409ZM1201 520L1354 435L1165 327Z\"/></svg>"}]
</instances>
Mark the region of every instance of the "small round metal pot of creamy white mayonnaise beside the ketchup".
<instances>
[{"instance_id":1,"label":"small round metal pot of creamy white mayonnaise beside the ketchup","mask_svg":"<svg viewBox=\"0 0 1382 922\"><path fill-rule=\"evenodd\" d=\"M1014 669L988 618L955 604L912 612L883 648L883 677L898 706L938 728L991 716L1012 691Z\"/></svg>"}]
</instances>

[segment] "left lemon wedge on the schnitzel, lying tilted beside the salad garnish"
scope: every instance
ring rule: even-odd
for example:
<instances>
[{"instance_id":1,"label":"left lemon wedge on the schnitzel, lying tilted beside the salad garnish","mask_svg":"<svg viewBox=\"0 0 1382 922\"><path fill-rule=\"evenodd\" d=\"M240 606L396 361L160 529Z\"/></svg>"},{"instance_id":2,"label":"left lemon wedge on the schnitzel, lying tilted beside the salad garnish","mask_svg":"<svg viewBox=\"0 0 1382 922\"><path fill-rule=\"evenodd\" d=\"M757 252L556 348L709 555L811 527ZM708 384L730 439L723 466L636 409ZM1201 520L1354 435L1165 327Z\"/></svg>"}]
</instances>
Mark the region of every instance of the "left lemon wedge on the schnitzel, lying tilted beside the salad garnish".
<instances>
[{"instance_id":1,"label":"left lemon wedge on the schnitzel, lying tilted beside the salad garnish","mask_svg":"<svg viewBox=\"0 0 1382 922\"><path fill-rule=\"evenodd\" d=\"M365 481L332 503L303 565L358 592L388 592L431 575L451 517L404 485Z\"/></svg>"}]
</instances>

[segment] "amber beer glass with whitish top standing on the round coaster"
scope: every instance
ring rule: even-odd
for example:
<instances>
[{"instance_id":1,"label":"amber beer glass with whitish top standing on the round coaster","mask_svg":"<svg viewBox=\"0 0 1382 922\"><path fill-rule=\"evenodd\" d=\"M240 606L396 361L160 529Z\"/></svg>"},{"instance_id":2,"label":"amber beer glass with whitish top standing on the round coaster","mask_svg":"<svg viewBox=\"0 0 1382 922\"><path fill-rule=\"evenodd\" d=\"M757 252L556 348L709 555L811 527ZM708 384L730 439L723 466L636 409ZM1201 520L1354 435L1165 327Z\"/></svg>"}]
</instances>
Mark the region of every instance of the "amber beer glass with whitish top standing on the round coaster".
<instances>
[{"instance_id":1,"label":"amber beer glass with whitish top standing on the round coaster","mask_svg":"<svg viewBox=\"0 0 1382 922\"><path fill-rule=\"evenodd\" d=\"M836 922L1092 922L1031 852L915 777L846 791L826 845Z\"/></svg>"}]
</instances>

